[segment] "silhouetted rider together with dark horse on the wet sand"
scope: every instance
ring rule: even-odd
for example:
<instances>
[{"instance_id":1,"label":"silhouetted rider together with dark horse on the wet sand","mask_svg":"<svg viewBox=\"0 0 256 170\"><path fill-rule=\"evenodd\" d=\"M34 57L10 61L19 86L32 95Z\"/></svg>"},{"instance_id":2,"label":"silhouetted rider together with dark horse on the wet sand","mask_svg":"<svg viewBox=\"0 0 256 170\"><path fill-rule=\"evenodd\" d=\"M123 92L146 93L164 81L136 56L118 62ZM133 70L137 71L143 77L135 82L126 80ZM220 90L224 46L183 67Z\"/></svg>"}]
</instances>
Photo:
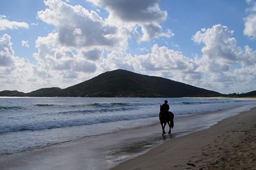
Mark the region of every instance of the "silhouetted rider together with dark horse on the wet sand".
<instances>
[{"instance_id":1,"label":"silhouetted rider together with dark horse on the wet sand","mask_svg":"<svg viewBox=\"0 0 256 170\"><path fill-rule=\"evenodd\" d=\"M170 106L168 101L164 101L164 104L160 105L160 113L159 113L159 120L162 126L163 135L165 134L164 127L166 124L169 125L169 132L168 134L171 135L171 129L173 128L173 118L174 115L171 111L169 111Z\"/></svg>"}]
</instances>

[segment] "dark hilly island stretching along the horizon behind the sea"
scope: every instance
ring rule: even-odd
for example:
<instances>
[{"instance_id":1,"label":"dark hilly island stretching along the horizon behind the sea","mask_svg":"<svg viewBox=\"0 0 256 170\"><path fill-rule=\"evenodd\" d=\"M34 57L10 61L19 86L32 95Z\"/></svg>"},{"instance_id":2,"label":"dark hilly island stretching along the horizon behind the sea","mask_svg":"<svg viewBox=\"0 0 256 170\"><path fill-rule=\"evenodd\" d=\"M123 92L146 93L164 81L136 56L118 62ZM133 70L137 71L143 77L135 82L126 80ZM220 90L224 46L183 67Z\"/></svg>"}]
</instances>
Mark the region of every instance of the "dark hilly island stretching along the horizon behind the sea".
<instances>
[{"instance_id":1,"label":"dark hilly island stretching along the horizon behind the sea","mask_svg":"<svg viewBox=\"0 0 256 170\"><path fill-rule=\"evenodd\" d=\"M108 71L77 85L38 89L33 92L4 90L6 97L220 97L228 96L157 76L147 76L124 69ZM228 97L234 97L232 94ZM255 97L256 91L236 94L236 97Z\"/></svg>"}]
</instances>

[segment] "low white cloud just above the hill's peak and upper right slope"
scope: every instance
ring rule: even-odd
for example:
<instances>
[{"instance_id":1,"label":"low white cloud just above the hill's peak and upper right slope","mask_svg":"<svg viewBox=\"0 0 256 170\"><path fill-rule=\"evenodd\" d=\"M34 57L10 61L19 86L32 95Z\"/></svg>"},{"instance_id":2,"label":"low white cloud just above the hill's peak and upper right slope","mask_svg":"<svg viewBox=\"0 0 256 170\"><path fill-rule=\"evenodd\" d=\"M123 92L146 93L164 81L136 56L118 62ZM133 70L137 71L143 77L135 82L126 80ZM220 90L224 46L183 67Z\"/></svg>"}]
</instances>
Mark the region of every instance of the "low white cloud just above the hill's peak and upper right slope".
<instances>
[{"instance_id":1,"label":"low white cloud just above the hill's peak and upper right slope","mask_svg":"<svg viewBox=\"0 0 256 170\"><path fill-rule=\"evenodd\" d=\"M202 73L196 71L198 65L182 54L166 46L154 45L151 52L145 55L125 56L118 53L110 53L104 60L106 69L122 68L138 73L164 76L172 80L189 82L197 78L200 80Z\"/></svg>"}]
</instances>

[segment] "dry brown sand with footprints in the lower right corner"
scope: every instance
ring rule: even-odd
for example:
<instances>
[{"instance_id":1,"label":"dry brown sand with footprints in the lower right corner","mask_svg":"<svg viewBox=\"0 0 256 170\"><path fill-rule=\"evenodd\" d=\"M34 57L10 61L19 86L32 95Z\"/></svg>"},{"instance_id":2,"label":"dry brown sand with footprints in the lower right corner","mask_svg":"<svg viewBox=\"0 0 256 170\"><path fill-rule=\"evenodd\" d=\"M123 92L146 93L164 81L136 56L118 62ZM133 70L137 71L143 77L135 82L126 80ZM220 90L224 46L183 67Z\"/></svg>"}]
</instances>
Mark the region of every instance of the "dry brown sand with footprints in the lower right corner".
<instances>
[{"instance_id":1,"label":"dry brown sand with footprints in the lower right corner","mask_svg":"<svg viewBox=\"0 0 256 170\"><path fill-rule=\"evenodd\" d=\"M256 108L170 139L113 169L256 169Z\"/></svg>"}]
</instances>

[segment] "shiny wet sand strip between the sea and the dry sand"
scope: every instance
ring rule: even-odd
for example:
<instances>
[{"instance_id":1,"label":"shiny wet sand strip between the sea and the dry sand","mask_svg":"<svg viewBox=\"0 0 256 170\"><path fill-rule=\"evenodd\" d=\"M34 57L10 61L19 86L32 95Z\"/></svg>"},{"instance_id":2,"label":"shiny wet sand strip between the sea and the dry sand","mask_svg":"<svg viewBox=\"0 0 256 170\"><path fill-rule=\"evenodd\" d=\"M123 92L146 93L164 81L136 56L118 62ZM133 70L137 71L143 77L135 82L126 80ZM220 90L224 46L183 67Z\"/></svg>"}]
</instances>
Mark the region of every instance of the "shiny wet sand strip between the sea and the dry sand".
<instances>
[{"instance_id":1,"label":"shiny wet sand strip between the sea and the dry sand","mask_svg":"<svg viewBox=\"0 0 256 170\"><path fill-rule=\"evenodd\" d=\"M191 135L189 133L198 133L196 131L200 133L202 129L211 127L223 118L248 110L246 108L247 106L242 106L232 110L175 118L172 138L166 136L164 139L161 136L161 126L156 124L4 155L0 156L0 169L110 169L112 167L113 169L119 169L120 166L123 169L130 169L130 167L124 166L125 162L140 159L143 155L151 153L152 150L159 150L159 148L161 150L166 143L177 140L182 143L190 141L190 138L186 137ZM161 145L162 143L163 145ZM170 169L170 166L168 166L170 162L168 161L172 159L168 159L164 163L167 164L167 169ZM131 167L131 169L134 168ZM164 168L161 167L161 169Z\"/></svg>"}]
</instances>

